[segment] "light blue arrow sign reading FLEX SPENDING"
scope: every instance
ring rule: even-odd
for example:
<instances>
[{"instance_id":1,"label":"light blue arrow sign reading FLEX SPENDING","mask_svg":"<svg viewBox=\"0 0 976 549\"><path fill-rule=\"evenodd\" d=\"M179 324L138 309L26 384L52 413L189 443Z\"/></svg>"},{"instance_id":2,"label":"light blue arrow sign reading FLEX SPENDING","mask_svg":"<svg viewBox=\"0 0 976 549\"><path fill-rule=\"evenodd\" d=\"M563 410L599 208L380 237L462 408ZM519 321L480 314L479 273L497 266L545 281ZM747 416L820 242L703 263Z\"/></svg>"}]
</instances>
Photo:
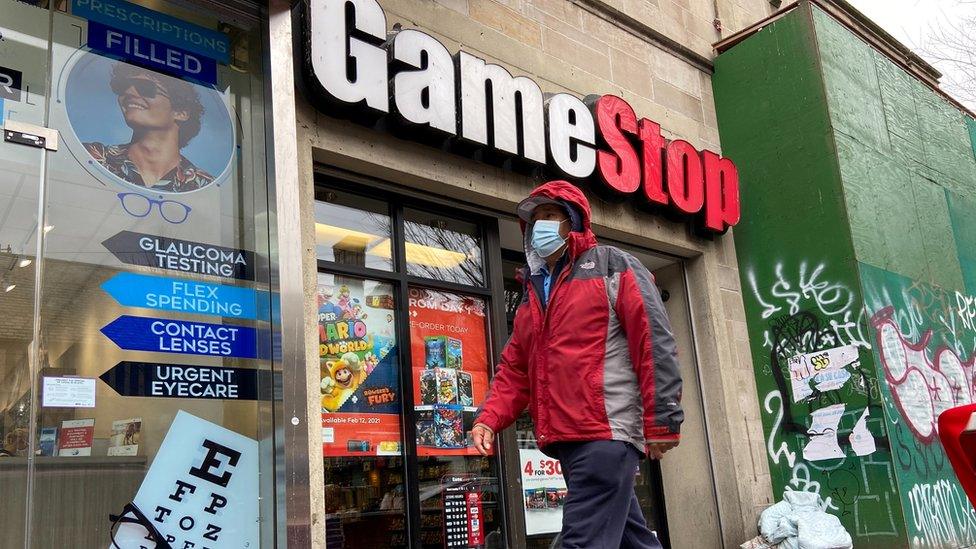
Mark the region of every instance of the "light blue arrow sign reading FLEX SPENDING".
<instances>
[{"instance_id":1,"label":"light blue arrow sign reading FLEX SPENDING","mask_svg":"<svg viewBox=\"0 0 976 549\"><path fill-rule=\"evenodd\" d=\"M118 273L103 282L102 289L125 307L250 320L257 318L257 294L251 288Z\"/></svg>"}]
</instances>

